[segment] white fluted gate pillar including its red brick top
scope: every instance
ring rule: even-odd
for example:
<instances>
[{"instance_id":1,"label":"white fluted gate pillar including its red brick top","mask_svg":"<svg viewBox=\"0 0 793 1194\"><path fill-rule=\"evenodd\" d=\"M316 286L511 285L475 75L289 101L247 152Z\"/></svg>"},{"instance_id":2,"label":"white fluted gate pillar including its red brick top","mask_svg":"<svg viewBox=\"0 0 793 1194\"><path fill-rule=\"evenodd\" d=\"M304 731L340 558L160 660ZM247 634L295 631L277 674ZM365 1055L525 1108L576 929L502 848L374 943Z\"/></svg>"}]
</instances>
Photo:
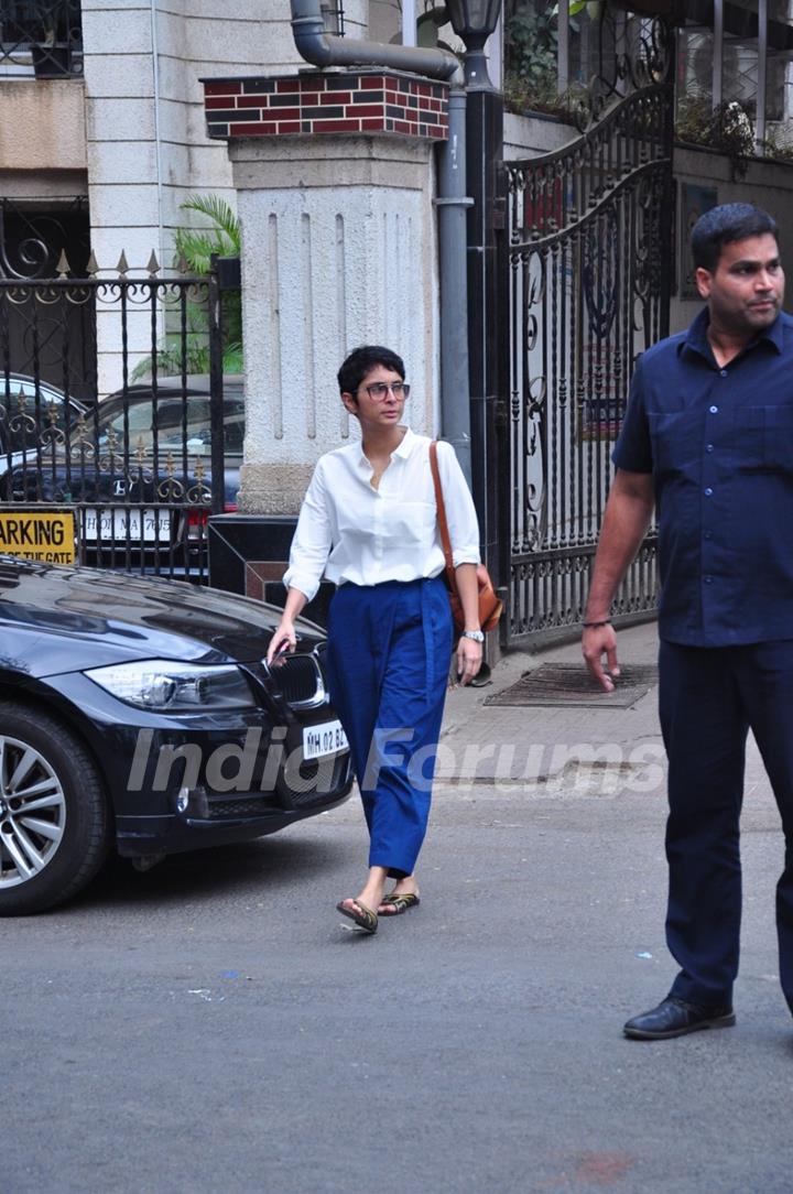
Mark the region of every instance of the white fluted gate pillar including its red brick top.
<instances>
[{"instance_id":1,"label":"white fluted gate pillar including its red brick top","mask_svg":"<svg viewBox=\"0 0 793 1194\"><path fill-rule=\"evenodd\" d=\"M382 70L204 82L242 226L247 436L240 510L293 515L318 456L357 436L336 371L358 344L405 358L406 418L437 424L432 144L447 87Z\"/></svg>"}]
</instances>

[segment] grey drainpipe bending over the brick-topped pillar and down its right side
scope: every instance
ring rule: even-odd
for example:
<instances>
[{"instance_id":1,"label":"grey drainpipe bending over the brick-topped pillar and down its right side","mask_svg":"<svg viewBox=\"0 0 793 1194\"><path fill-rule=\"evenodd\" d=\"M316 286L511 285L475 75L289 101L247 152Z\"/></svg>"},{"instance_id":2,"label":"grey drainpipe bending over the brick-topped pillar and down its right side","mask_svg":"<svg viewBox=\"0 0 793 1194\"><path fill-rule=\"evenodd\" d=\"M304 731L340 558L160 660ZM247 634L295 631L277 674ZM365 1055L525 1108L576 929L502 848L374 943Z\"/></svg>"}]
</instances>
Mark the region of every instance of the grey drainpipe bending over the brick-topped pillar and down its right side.
<instances>
[{"instance_id":1,"label":"grey drainpipe bending over the brick-topped pillar and down its right side","mask_svg":"<svg viewBox=\"0 0 793 1194\"><path fill-rule=\"evenodd\" d=\"M444 79L449 92L449 140L439 147L438 256L441 271L441 435L455 448L471 485L468 381L468 272L466 208L466 92L460 61L448 50L358 41L325 32L320 0L290 0L299 54L313 66L379 66ZM405 351L398 345L398 351Z\"/></svg>"}]
</instances>

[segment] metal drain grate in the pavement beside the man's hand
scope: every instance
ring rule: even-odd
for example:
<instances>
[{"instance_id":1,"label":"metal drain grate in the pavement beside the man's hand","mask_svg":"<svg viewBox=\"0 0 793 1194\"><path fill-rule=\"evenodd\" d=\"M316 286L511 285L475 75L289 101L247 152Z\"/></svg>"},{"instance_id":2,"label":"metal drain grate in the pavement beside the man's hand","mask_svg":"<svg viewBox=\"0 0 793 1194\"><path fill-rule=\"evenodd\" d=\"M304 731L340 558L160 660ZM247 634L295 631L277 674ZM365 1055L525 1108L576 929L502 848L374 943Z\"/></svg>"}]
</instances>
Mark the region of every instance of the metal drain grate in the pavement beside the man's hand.
<instances>
[{"instance_id":1,"label":"metal drain grate in the pavement beside the man's hand","mask_svg":"<svg viewBox=\"0 0 793 1194\"><path fill-rule=\"evenodd\" d=\"M626 664L613 693L598 688L580 664L541 664L517 684L488 696L485 704L583 704L628 709L658 683L654 664Z\"/></svg>"}]
</instances>

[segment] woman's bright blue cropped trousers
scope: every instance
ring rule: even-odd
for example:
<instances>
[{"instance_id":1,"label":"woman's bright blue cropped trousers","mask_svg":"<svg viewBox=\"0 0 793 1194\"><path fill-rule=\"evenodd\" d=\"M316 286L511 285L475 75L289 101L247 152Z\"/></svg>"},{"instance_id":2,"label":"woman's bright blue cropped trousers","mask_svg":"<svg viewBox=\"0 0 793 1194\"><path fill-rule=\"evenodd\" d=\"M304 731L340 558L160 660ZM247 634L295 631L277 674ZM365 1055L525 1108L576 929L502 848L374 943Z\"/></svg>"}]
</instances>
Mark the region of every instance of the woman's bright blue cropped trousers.
<instances>
[{"instance_id":1,"label":"woman's bright blue cropped trousers","mask_svg":"<svg viewBox=\"0 0 793 1194\"><path fill-rule=\"evenodd\" d=\"M430 814L451 656L438 578L343 584L327 626L331 700L350 741L369 826L369 866L413 873Z\"/></svg>"}]
</instances>

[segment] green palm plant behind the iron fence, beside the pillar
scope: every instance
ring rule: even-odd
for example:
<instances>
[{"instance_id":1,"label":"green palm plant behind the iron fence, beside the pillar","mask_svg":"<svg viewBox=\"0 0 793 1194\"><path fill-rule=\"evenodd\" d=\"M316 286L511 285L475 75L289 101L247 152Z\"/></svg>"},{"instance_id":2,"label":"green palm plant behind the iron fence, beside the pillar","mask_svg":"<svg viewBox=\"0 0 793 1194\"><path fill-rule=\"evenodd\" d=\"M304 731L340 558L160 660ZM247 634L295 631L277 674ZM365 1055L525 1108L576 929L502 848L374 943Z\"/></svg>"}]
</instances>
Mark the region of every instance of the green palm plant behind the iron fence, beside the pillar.
<instances>
[{"instance_id":1,"label":"green palm plant behind the iron fence, beside the pillar","mask_svg":"<svg viewBox=\"0 0 793 1194\"><path fill-rule=\"evenodd\" d=\"M211 258L239 257L241 248L240 222L232 207L217 195L191 195L180 205L183 211L195 211L211 222L209 228L178 228L173 238L174 267L190 277L207 277ZM171 319L168 319L168 314ZM174 315L177 318L174 318ZM209 373L209 313L204 298L188 298L183 315L166 312L167 328L155 357L145 357L133 370L133 381L152 374L156 361L162 376ZM222 295L223 373L242 371L242 296L239 290Z\"/></svg>"}]
</instances>

